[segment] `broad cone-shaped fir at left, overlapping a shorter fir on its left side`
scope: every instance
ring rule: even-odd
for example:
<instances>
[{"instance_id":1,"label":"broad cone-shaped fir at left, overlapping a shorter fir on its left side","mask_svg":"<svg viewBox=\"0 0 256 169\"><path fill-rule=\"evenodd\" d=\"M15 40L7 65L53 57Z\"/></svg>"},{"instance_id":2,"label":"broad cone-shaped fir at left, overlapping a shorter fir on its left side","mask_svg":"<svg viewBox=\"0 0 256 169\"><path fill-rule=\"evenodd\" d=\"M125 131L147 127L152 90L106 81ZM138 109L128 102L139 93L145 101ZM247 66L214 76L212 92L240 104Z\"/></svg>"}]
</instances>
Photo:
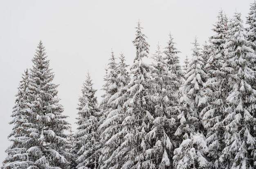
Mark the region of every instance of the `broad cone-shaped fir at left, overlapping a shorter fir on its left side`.
<instances>
[{"instance_id":1,"label":"broad cone-shaped fir at left, overlapping a shorter fir on its left side","mask_svg":"<svg viewBox=\"0 0 256 169\"><path fill-rule=\"evenodd\" d=\"M65 120L67 116L62 115L63 107L57 97L58 85L52 83L54 74L49 69L41 41L32 62L34 65L25 91L27 101L23 112L26 119L22 123L26 134L21 142L26 152L20 151L25 155L20 163L26 161L27 169L66 169L70 157L66 149L70 148L70 143L63 132L69 130L70 125Z\"/></svg>"}]
</instances>

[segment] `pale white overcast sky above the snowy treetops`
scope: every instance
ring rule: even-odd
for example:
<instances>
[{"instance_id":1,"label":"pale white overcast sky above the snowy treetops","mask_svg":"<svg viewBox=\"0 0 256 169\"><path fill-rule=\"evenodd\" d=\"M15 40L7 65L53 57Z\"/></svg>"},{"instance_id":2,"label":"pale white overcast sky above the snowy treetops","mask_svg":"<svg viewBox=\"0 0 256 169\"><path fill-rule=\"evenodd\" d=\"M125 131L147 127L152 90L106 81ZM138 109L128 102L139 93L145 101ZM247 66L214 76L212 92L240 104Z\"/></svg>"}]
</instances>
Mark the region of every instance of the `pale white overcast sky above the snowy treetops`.
<instances>
[{"instance_id":1,"label":"pale white overcast sky above the snowy treetops","mask_svg":"<svg viewBox=\"0 0 256 169\"><path fill-rule=\"evenodd\" d=\"M121 51L128 64L135 58L135 27L140 20L148 38L150 56L159 42L166 47L171 32L181 64L191 55L195 36L201 47L213 35L212 24L223 9L228 17L234 12L245 16L253 0L0 0L0 163L11 142L12 107L24 70L32 67L40 40L45 46L50 68L59 84L58 96L67 120L76 130L77 103L89 70L98 100L103 91L105 67L113 49ZM245 25L246 27L246 25ZM1 164L0 164L1 166Z\"/></svg>"}]
</instances>

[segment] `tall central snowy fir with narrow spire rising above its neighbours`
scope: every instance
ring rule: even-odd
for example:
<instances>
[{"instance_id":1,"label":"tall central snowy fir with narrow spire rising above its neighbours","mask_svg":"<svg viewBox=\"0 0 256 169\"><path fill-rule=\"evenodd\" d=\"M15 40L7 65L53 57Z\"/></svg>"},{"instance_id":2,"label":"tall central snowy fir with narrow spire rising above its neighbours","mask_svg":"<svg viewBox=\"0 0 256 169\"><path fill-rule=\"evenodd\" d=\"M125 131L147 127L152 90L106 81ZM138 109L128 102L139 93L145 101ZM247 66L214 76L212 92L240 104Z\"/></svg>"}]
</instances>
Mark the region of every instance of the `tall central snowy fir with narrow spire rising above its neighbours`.
<instances>
[{"instance_id":1,"label":"tall central snowy fir with narrow spire rising above its neighbours","mask_svg":"<svg viewBox=\"0 0 256 169\"><path fill-rule=\"evenodd\" d=\"M146 36L141 33L140 22L138 23L136 38L133 44L136 47L136 56L131 66L132 78L128 84L129 99L124 103L126 107L125 118L122 122L123 129L120 134L124 134L124 141L121 142L121 150L118 153L121 169L150 168L153 162L143 162L144 153L148 149L145 136L149 131L149 122L153 121L153 116L148 109L150 102L148 97L150 66L142 61L148 57L149 44Z\"/></svg>"}]
</instances>

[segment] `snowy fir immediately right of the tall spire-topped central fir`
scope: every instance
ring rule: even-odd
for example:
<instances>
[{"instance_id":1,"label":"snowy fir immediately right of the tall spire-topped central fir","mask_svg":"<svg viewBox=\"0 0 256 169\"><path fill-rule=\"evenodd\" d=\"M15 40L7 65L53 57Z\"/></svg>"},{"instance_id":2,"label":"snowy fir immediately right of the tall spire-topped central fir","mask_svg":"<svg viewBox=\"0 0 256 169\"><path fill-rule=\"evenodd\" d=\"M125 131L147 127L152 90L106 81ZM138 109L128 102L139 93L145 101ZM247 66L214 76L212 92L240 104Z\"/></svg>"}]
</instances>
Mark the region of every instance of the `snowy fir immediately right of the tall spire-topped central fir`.
<instances>
[{"instance_id":1,"label":"snowy fir immediately right of the tall spire-topped central fir","mask_svg":"<svg viewBox=\"0 0 256 169\"><path fill-rule=\"evenodd\" d=\"M157 45L157 51L153 55L155 62L152 64L152 70L149 73L150 80L150 102L151 114L154 120L150 121L151 129L145 136L145 143L149 146L144 151L144 157L141 158L144 164L142 168L161 168L172 165L173 134L175 119L171 117L169 109L170 100L168 90L172 88L171 80L174 76L162 57L160 46ZM146 165L147 164L147 165Z\"/></svg>"}]
</instances>

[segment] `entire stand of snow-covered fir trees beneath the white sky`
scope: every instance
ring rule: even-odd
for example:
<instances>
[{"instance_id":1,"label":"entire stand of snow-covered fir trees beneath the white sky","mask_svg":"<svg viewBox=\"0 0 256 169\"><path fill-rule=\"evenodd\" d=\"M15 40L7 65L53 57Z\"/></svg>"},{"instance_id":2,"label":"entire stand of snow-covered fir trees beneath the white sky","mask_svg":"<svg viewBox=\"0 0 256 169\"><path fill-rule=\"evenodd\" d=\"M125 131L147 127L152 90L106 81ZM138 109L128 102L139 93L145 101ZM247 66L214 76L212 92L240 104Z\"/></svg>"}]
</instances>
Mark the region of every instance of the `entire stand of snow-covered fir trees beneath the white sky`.
<instances>
[{"instance_id":1,"label":"entire stand of snow-covered fir trees beneath the white sky","mask_svg":"<svg viewBox=\"0 0 256 169\"><path fill-rule=\"evenodd\" d=\"M256 2L241 14L220 11L215 34L180 66L170 35L147 64L137 25L130 71L111 53L97 102L90 74L78 103L78 128L58 103L42 42L22 75L2 169L189 169L256 167Z\"/></svg>"}]
</instances>

